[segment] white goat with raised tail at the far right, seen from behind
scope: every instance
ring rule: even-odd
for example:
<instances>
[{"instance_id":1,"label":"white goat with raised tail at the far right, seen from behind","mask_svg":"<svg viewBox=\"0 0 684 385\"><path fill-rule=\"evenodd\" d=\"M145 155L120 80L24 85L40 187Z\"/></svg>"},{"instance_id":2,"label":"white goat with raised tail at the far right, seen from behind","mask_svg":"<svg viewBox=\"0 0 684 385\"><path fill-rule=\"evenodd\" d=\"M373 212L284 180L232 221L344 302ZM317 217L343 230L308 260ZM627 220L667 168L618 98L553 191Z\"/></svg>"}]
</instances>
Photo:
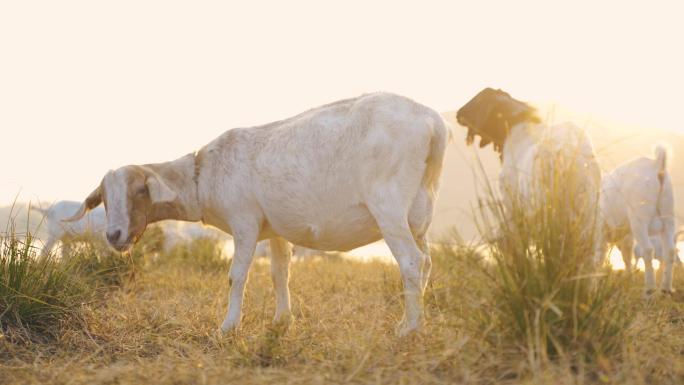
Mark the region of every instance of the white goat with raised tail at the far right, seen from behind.
<instances>
[{"instance_id":1,"label":"white goat with raised tail at the far right, seen from behind","mask_svg":"<svg viewBox=\"0 0 684 385\"><path fill-rule=\"evenodd\" d=\"M655 290L653 257L664 264L660 288L665 293L672 292L677 258L674 195L666 167L667 152L656 146L655 159L641 157L618 166L603 178L601 187L605 240L617 244L627 269L632 266L632 251L643 258L648 293Z\"/></svg>"}]
</instances>

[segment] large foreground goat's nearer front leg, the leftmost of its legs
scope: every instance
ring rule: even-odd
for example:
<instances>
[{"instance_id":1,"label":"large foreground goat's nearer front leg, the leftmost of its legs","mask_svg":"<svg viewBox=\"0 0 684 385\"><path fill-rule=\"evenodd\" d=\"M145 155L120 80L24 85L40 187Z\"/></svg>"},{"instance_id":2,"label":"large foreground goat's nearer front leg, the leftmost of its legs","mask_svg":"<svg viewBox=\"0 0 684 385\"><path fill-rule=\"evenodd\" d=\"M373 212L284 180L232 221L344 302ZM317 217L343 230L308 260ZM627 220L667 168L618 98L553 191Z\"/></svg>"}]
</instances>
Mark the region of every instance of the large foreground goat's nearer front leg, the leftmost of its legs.
<instances>
[{"instance_id":1,"label":"large foreground goat's nearer front leg, the leftmost of its legs","mask_svg":"<svg viewBox=\"0 0 684 385\"><path fill-rule=\"evenodd\" d=\"M230 265L228 278L230 285L228 311L221 324L221 331L223 333L236 329L240 324L245 285L247 284L249 268L252 266L252 260L254 259L254 249L256 248L258 236L259 226L255 223L242 223L233 226L235 254Z\"/></svg>"}]
</instances>

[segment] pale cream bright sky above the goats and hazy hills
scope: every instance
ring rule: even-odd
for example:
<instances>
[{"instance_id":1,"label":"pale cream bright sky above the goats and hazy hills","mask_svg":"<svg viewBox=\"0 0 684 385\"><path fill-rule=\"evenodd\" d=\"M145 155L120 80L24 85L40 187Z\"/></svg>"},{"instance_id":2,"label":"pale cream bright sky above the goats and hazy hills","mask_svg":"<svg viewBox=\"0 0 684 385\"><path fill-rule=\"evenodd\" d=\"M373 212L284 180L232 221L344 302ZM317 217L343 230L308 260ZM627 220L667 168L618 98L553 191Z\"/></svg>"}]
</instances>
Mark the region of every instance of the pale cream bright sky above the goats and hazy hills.
<instances>
[{"instance_id":1,"label":"pale cream bright sky above the goats and hazy hills","mask_svg":"<svg viewBox=\"0 0 684 385\"><path fill-rule=\"evenodd\" d=\"M684 132L679 2L2 1L0 204L364 92L484 86Z\"/></svg>"}]
</instances>

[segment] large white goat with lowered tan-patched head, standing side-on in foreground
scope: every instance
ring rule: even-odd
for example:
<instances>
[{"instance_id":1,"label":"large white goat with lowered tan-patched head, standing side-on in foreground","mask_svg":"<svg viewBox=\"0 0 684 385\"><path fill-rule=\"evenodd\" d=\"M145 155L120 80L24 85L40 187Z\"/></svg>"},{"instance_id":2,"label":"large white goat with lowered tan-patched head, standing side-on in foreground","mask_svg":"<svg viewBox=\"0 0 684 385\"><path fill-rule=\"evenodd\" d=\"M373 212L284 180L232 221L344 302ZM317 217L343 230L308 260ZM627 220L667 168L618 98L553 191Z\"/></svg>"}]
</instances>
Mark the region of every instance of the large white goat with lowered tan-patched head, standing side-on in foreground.
<instances>
[{"instance_id":1,"label":"large white goat with lowered tan-patched head, standing side-on in foreground","mask_svg":"<svg viewBox=\"0 0 684 385\"><path fill-rule=\"evenodd\" d=\"M448 129L434 110L376 93L282 121L229 130L196 154L107 173L78 219L104 199L107 238L128 248L147 224L202 221L233 235L222 331L238 326L256 243L270 239L276 322L289 322L288 241L350 250L381 237L404 283L399 333L422 323L432 220Z\"/></svg>"}]
</instances>

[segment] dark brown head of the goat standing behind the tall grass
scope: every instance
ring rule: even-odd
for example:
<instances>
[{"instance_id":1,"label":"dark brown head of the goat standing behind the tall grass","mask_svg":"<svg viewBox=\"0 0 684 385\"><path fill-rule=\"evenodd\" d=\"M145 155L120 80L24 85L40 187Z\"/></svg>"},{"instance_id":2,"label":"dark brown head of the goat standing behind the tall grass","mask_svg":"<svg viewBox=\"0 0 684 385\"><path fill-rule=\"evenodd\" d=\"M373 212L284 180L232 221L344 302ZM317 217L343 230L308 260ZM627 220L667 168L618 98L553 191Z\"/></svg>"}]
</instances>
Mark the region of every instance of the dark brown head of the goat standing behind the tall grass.
<instances>
[{"instance_id":1,"label":"dark brown head of the goat standing behind the tall grass","mask_svg":"<svg viewBox=\"0 0 684 385\"><path fill-rule=\"evenodd\" d=\"M489 143L503 156L503 145L511 127L521 122L539 123L533 107L512 98L508 93L485 88L461 107L456 120L468 128L466 143L472 144L480 136L480 147Z\"/></svg>"}]
</instances>

